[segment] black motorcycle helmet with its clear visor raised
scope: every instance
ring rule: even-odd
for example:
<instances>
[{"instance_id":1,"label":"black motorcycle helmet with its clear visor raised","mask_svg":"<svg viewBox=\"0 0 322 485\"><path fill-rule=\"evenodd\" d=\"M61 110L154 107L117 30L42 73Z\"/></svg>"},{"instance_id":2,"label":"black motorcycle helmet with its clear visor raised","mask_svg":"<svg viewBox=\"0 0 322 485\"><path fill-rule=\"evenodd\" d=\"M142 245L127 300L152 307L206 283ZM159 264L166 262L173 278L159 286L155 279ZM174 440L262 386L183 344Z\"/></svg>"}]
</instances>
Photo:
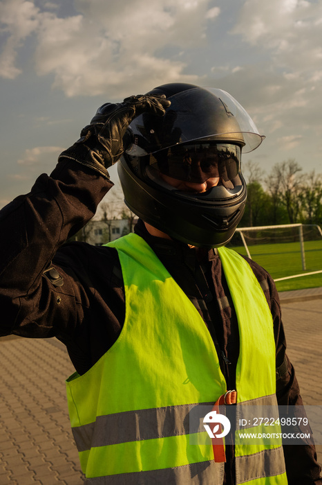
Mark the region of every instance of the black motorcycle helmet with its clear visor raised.
<instances>
[{"instance_id":1,"label":"black motorcycle helmet with its clear visor raised","mask_svg":"<svg viewBox=\"0 0 322 485\"><path fill-rule=\"evenodd\" d=\"M207 248L227 244L247 197L241 150L254 150L265 137L221 89L171 83L148 94L165 94L171 105L163 117L135 118L124 137L129 148L117 164L124 202L173 239ZM191 193L174 188L167 177L196 183L218 177L220 182Z\"/></svg>"}]
</instances>

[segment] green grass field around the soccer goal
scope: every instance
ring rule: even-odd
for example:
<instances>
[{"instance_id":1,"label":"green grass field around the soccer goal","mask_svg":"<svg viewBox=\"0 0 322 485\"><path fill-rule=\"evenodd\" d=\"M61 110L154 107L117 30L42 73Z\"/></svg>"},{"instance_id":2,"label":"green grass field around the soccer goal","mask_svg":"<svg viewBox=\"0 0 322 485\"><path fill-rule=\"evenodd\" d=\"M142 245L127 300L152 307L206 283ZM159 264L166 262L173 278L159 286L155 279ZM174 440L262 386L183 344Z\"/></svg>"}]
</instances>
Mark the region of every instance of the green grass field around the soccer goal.
<instances>
[{"instance_id":1,"label":"green grass field around the soccer goal","mask_svg":"<svg viewBox=\"0 0 322 485\"><path fill-rule=\"evenodd\" d=\"M305 241L304 248L305 271L302 269L300 243L276 243L248 247L252 259L272 274L274 279L322 270L322 240ZM244 246L231 249L247 256ZM318 286L322 286L322 273L276 282L278 291L301 290Z\"/></svg>"}]
</instances>

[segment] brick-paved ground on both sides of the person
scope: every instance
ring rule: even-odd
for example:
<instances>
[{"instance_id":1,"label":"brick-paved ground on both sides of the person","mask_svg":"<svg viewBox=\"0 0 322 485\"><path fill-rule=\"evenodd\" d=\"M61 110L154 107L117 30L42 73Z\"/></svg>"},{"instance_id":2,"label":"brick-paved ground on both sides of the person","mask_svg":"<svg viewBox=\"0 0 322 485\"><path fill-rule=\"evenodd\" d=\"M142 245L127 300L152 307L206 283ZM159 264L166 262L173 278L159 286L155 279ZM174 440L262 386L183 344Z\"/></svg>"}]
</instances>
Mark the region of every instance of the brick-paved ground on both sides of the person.
<instances>
[{"instance_id":1,"label":"brick-paved ground on both sides of the person","mask_svg":"<svg viewBox=\"0 0 322 485\"><path fill-rule=\"evenodd\" d=\"M321 404L322 288L285 292L281 301L304 403ZM68 420L64 380L74 369L64 346L2 337L0 366L0 485L84 484Z\"/></svg>"}]
</instances>

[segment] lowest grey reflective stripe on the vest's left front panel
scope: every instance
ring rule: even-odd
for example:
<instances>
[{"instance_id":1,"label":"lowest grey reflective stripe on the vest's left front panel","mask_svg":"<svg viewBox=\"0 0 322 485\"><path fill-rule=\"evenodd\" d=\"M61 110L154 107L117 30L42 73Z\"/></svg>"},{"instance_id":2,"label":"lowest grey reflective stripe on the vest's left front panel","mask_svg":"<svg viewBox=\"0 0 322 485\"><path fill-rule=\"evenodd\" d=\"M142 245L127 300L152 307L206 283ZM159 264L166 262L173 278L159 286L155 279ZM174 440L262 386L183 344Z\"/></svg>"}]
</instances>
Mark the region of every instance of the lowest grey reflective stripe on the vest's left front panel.
<instances>
[{"instance_id":1,"label":"lowest grey reflective stripe on the vest's left front panel","mask_svg":"<svg viewBox=\"0 0 322 485\"><path fill-rule=\"evenodd\" d=\"M222 485L223 480L223 463L202 461L162 470L88 478L85 485Z\"/></svg>"}]
</instances>

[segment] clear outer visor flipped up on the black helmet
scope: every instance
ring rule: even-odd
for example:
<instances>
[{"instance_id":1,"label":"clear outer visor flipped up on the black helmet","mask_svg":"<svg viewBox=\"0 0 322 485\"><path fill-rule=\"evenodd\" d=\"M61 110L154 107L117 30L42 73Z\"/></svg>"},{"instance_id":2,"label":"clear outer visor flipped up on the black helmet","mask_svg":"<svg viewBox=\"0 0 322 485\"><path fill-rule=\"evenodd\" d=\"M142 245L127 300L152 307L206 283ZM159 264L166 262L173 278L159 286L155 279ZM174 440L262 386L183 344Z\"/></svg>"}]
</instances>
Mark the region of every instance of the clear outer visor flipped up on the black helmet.
<instances>
[{"instance_id":1,"label":"clear outer visor flipped up on the black helmet","mask_svg":"<svg viewBox=\"0 0 322 485\"><path fill-rule=\"evenodd\" d=\"M188 89L169 100L164 116L143 113L132 121L128 155L142 157L198 140L236 143L247 153L265 138L238 101L221 89Z\"/></svg>"}]
</instances>

